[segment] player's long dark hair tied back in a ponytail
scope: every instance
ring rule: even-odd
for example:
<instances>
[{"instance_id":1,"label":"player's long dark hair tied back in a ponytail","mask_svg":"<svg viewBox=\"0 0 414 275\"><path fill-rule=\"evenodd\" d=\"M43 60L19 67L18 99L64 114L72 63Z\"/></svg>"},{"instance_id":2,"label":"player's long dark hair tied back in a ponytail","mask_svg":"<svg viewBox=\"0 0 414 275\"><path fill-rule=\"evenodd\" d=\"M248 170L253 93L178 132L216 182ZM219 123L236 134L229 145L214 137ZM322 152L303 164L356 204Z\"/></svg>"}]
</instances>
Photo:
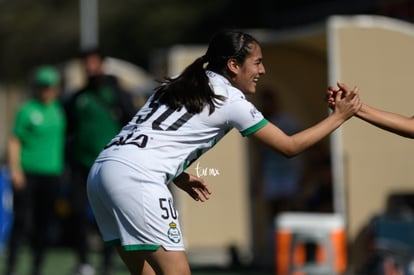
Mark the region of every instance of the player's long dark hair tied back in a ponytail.
<instances>
[{"instance_id":1,"label":"player's long dark hair tied back in a ponytail","mask_svg":"<svg viewBox=\"0 0 414 275\"><path fill-rule=\"evenodd\" d=\"M225 30L216 33L210 40L206 54L186 67L178 77L166 78L156 88L154 100L174 110L185 107L193 114L200 113L208 105L210 114L213 113L218 101L225 98L216 95L210 88L205 70L229 78L227 61L235 59L243 64L251 52L252 43L258 44L258 41L241 31Z\"/></svg>"}]
</instances>

